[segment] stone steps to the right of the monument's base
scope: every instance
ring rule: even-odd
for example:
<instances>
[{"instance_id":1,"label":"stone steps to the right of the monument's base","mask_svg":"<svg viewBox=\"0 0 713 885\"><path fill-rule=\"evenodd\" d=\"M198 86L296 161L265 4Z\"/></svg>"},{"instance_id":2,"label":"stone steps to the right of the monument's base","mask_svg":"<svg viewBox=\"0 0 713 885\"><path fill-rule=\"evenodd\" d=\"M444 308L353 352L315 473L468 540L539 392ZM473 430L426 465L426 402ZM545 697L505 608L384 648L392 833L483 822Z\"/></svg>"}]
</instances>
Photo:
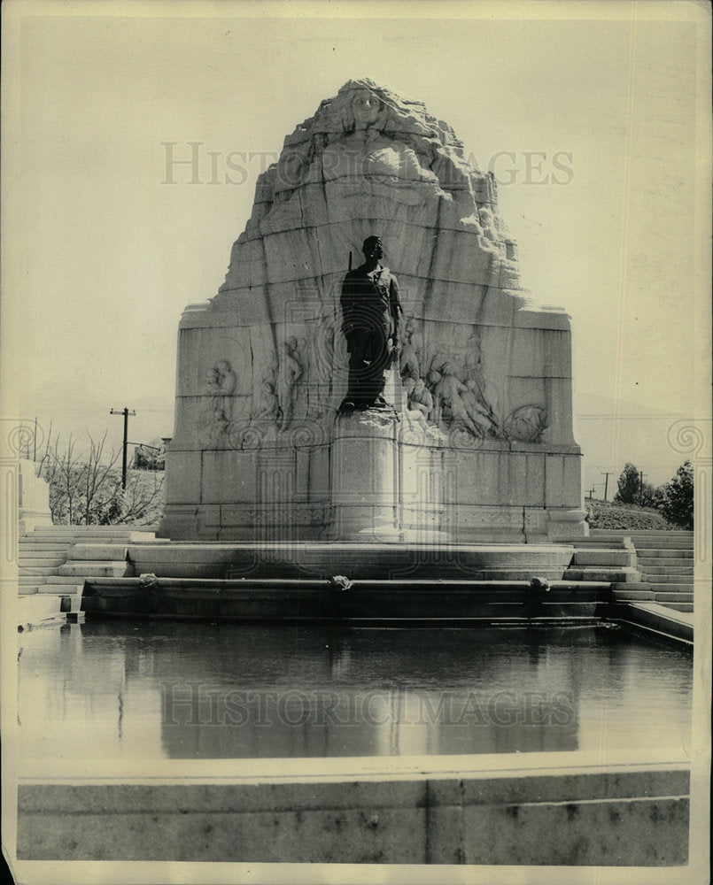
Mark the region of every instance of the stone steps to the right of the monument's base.
<instances>
[{"instance_id":1,"label":"stone steps to the right of the monument's base","mask_svg":"<svg viewBox=\"0 0 713 885\"><path fill-rule=\"evenodd\" d=\"M683 531L611 531L593 529L586 539L593 548L631 539L639 581L618 588L628 601L650 601L677 612L694 611L694 533ZM616 589L616 588L615 588Z\"/></svg>"}]
</instances>

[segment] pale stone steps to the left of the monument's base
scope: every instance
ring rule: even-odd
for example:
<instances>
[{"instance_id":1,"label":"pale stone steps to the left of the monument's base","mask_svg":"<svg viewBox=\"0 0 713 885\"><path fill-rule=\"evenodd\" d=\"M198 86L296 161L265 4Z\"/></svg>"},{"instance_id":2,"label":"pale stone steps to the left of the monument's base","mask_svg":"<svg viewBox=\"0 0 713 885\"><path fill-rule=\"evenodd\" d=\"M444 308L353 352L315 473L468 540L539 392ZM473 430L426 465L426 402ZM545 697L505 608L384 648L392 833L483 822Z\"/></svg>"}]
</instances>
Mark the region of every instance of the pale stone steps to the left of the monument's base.
<instances>
[{"instance_id":1,"label":"pale stone steps to the left of the monument's base","mask_svg":"<svg viewBox=\"0 0 713 885\"><path fill-rule=\"evenodd\" d=\"M154 538L153 526L35 527L19 538L19 596L61 596L70 600L63 611L79 612L87 577L126 574L126 545ZM97 557L88 558L81 550L97 550ZM111 559L103 558L107 550Z\"/></svg>"}]
</instances>

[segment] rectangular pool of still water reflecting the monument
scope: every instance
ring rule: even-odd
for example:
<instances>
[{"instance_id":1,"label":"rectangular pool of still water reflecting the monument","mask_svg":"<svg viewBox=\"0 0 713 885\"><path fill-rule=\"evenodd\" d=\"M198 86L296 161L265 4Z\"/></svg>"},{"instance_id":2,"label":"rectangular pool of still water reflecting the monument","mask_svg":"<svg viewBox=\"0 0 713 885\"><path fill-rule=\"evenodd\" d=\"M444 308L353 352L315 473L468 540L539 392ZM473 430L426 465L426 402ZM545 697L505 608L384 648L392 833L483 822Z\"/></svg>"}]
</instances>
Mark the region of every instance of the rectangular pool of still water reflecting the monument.
<instances>
[{"instance_id":1,"label":"rectangular pool of still water reflecting the monument","mask_svg":"<svg viewBox=\"0 0 713 885\"><path fill-rule=\"evenodd\" d=\"M97 621L19 637L27 758L269 758L688 743L691 655L616 627Z\"/></svg>"}]
</instances>

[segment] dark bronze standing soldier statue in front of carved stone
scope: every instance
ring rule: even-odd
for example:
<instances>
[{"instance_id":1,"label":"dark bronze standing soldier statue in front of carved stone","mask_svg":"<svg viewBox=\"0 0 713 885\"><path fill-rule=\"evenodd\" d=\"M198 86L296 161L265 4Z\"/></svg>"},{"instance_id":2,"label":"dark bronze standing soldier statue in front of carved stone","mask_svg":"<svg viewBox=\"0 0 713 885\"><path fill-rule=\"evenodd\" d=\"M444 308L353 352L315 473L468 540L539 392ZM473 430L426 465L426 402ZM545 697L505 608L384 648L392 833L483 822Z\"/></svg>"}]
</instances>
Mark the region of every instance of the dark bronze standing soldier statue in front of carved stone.
<instances>
[{"instance_id":1,"label":"dark bronze standing soldier statue in front of carved stone","mask_svg":"<svg viewBox=\"0 0 713 885\"><path fill-rule=\"evenodd\" d=\"M369 236L362 247L364 263L345 276L342 285L342 331L349 352L349 382L341 410L387 408L384 372L396 355L401 304L396 277L379 263L381 237Z\"/></svg>"}]
</instances>

